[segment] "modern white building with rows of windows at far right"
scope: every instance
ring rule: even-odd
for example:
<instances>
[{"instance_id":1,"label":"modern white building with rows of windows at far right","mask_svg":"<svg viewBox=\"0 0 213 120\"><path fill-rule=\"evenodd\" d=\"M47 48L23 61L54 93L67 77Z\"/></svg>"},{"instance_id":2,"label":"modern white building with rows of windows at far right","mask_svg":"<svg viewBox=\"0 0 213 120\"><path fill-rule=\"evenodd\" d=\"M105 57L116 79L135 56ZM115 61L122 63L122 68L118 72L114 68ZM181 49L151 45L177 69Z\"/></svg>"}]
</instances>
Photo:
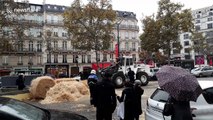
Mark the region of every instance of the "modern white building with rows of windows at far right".
<instances>
[{"instance_id":1,"label":"modern white building with rows of windows at far right","mask_svg":"<svg viewBox=\"0 0 213 120\"><path fill-rule=\"evenodd\" d=\"M206 42L209 45L213 45L213 6L193 10L192 17L194 20L193 23L195 30L202 32L206 37ZM205 56L196 53L194 50L190 50L194 44L191 41L191 33L186 32L180 34L179 36L183 49L180 53L173 51L173 58L177 57L180 59L194 59L195 64L212 64L212 54ZM211 51L208 51L208 53L211 53Z\"/></svg>"}]
</instances>

